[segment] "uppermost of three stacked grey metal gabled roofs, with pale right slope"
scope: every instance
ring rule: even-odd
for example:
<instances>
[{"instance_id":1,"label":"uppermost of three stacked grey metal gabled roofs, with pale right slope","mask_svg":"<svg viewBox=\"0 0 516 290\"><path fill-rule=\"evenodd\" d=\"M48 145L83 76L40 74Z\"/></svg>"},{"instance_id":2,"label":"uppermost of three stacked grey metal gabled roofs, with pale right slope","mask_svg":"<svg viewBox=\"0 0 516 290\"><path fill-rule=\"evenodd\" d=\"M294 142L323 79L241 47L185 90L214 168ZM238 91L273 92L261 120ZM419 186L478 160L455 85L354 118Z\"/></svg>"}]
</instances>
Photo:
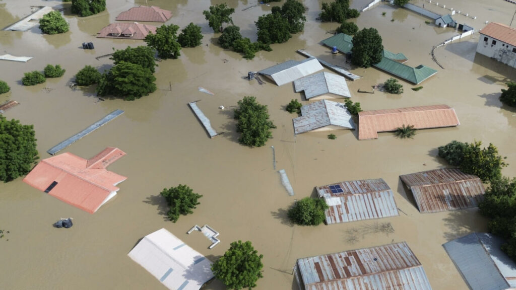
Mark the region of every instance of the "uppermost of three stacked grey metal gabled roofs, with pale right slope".
<instances>
[{"instance_id":1,"label":"uppermost of three stacked grey metal gabled roofs, with pale right slope","mask_svg":"<svg viewBox=\"0 0 516 290\"><path fill-rule=\"evenodd\" d=\"M278 86L282 86L294 82L294 80L303 76L321 71L322 69L319 61L314 57L310 57L302 61L288 60L276 66L261 70L258 73L270 78Z\"/></svg>"}]
</instances>

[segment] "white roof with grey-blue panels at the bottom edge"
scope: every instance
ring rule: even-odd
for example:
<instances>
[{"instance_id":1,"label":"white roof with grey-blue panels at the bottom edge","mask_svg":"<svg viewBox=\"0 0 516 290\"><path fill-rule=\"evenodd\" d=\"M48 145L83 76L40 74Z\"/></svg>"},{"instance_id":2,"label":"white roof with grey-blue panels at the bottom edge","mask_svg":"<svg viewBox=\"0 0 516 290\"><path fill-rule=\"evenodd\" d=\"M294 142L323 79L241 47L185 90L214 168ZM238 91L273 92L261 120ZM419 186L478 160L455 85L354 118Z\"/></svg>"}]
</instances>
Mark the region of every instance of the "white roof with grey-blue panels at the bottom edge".
<instances>
[{"instance_id":1,"label":"white roof with grey-blue panels at the bottom edge","mask_svg":"<svg viewBox=\"0 0 516 290\"><path fill-rule=\"evenodd\" d=\"M214 277L212 262L165 229L143 237L127 255L171 290L199 290Z\"/></svg>"}]
</instances>

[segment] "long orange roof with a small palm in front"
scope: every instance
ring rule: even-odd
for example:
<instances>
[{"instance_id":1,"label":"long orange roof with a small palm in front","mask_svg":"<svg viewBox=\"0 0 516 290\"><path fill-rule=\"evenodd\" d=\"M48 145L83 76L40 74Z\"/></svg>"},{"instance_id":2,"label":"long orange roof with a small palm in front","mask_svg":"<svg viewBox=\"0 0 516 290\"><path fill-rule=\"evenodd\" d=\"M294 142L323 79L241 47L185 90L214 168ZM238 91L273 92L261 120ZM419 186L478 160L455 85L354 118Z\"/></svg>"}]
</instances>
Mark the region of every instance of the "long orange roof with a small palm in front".
<instances>
[{"instance_id":1,"label":"long orange roof with a small palm in front","mask_svg":"<svg viewBox=\"0 0 516 290\"><path fill-rule=\"evenodd\" d=\"M416 129L460 125L455 109L447 105L362 111L358 114L358 139L378 138L378 132L396 131L402 125Z\"/></svg>"}]
</instances>

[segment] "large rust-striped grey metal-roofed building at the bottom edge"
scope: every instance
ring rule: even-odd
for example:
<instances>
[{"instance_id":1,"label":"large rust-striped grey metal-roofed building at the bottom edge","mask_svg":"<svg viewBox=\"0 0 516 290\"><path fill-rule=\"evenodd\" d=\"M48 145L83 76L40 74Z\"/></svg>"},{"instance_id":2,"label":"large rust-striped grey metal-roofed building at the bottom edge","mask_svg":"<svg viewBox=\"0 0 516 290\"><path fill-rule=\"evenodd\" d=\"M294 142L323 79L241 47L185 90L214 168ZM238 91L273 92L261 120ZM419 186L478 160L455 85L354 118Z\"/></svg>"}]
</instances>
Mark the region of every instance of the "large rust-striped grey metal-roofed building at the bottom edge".
<instances>
[{"instance_id":1,"label":"large rust-striped grey metal-roofed building at the bottom edge","mask_svg":"<svg viewBox=\"0 0 516 290\"><path fill-rule=\"evenodd\" d=\"M300 290L432 288L405 242L298 259L295 278Z\"/></svg>"}]
</instances>

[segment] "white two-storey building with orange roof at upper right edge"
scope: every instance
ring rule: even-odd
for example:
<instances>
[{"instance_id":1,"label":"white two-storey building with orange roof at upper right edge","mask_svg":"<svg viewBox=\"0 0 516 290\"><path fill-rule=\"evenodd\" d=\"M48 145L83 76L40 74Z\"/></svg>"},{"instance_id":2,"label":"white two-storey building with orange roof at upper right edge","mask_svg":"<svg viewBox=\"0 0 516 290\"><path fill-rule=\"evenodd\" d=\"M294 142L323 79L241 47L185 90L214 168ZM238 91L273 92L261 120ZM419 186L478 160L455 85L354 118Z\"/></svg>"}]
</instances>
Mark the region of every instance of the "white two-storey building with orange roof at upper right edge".
<instances>
[{"instance_id":1,"label":"white two-storey building with orange roof at upper right edge","mask_svg":"<svg viewBox=\"0 0 516 290\"><path fill-rule=\"evenodd\" d=\"M480 30L477 53L516 68L516 29L501 23L489 23Z\"/></svg>"}]
</instances>

